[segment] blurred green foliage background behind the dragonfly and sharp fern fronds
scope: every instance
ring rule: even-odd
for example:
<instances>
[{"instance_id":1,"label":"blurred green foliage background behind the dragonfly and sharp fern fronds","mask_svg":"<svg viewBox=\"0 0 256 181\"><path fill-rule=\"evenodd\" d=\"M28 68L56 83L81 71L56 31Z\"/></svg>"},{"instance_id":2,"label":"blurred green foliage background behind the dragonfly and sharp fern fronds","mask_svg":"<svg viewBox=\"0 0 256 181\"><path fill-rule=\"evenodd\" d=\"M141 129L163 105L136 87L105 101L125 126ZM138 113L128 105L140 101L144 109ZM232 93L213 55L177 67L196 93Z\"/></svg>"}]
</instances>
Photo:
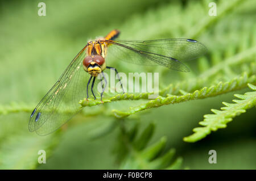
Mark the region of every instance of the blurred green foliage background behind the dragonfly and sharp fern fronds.
<instances>
[{"instance_id":1,"label":"blurred green foliage background behind the dragonfly and sharp fern fronds","mask_svg":"<svg viewBox=\"0 0 256 181\"><path fill-rule=\"evenodd\" d=\"M46 3L46 16L38 16L39 2ZM105 36L113 29L121 31L120 39L199 40L209 49L209 62L211 57L225 60L253 47L250 42L255 43L256 37L255 1L214 1L217 16L208 15L209 2L212 1L2 1L0 169L120 168L117 147L121 129L111 110L129 110L142 100L86 107L62 129L44 137L28 132L31 111L86 41ZM108 61L122 72L152 71L118 60ZM203 71L200 61L187 64L192 70L188 74L157 68L160 89ZM220 74L208 85L230 80L235 74ZM220 109L222 102L232 102L233 94L246 91L249 89L153 108L123 121L127 127L139 123L139 132L154 122L155 131L148 145L166 136L166 149L176 149L176 156L183 158L182 168L256 169L254 108L199 142L183 141L203 116L211 113L210 109ZM101 136L104 132L108 133ZM47 151L47 163L40 165L37 158L42 149ZM217 151L217 164L208 162L209 150Z\"/></svg>"}]
</instances>

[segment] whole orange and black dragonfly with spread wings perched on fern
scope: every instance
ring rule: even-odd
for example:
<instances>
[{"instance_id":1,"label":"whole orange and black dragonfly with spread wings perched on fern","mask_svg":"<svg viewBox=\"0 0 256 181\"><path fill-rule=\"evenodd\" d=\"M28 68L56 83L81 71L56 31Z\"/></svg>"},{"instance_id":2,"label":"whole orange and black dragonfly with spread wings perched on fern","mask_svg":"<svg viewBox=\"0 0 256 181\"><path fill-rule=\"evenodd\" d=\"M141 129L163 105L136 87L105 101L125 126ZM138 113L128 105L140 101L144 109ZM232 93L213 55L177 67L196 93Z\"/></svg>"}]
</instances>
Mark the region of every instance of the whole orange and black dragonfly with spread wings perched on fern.
<instances>
[{"instance_id":1,"label":"whole orange and black dragonfly with spread wings perched on fern","mask_svg":"<svg viewBox=\"0 0 256 181\"><path fill-rule=\"evenodd\" d=\"M76 115L82 109L79 101L85 95L87 100L89 98L90 82L93 98L96 99L93 86L98 76L105 81L102 91L100 94L98 92L102 102L107 85L104 71L114 69L118 75L117 69L106 64L109 54L114 57L123 54L125 57L119 60L138 65L161 65L171 70L188 72L189 68L182 61L195 59L207 51L203 43L193 39L116 40L119 33L113 30L105 37L88 41L32 111L28 123L30 132L47 135Z\"/></svg>"}]
</instances>

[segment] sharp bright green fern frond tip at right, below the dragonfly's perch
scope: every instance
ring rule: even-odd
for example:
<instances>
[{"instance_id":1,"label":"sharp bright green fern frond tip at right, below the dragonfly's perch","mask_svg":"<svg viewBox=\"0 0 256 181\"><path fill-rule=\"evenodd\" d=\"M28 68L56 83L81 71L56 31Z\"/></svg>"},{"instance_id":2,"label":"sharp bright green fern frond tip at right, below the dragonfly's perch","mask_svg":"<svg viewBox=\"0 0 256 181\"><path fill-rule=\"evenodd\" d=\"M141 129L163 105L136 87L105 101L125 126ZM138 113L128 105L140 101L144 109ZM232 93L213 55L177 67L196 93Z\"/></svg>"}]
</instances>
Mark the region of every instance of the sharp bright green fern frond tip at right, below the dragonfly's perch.
<instances>
[{"instance_id":1,"label":"sharp bright green fern frond tip at right, below the dragonfly's perch","mask_svg":"<svg viewBox=\"0 0 256 181\"><path fill-rule=\"evenodd\" d=\"M235 94L237 98L241 100L233 100L235 103L226 103L223 104L226 107L222 107L221 110L211 110L213 115L204 115L204 121L201 121L199 124L204 127L198 127L193 129L193 133L191 136L184 137L183 140L187 142L196 142L204 137L206 137L210 132L217 131L220 128L226 128L226 124L228 124L232 119L241 113L246 112L247 109L256 106L256 86L248 83L248 86L254 92L246 92L244 95Z\"/></svg>"}]
</instances>

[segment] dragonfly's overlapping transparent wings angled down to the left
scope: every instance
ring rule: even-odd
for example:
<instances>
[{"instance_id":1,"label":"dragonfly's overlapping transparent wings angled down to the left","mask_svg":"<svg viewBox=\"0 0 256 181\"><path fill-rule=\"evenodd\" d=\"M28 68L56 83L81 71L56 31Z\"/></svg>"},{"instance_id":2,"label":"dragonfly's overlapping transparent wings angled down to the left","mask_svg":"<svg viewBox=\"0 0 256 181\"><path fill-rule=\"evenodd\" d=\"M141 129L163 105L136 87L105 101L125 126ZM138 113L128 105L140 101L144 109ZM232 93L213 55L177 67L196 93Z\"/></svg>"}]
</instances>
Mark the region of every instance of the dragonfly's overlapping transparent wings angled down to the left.
<instances>
[{"instance_id":1,"label":"dragonfly's overlapping transparent wings angled down to the left","mask_svg":"<svg viewBox=\"0 0 256 181\"><path fill-rule=\"evenodd\" d=\"M82 68L86 47L68 65L59 80L32 112L28 129L39 135L55 131L80 111L79 100L86 96L90 75Z\"/></svg>"}]
</instances>

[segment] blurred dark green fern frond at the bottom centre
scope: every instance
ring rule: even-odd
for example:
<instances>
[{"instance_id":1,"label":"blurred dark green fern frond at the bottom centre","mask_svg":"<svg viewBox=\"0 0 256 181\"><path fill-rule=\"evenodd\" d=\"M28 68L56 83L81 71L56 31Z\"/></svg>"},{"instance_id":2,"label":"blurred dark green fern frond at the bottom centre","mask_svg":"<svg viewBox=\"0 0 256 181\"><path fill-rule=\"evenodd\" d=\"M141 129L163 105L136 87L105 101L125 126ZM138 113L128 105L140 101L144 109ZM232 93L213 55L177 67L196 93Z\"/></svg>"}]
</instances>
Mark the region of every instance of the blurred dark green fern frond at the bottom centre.
<instances>
[{"instance_id":1,"label":"blurred dark green fern frond at the bottom centre","mask_svg":"<svg viewBox=\"0 0 256 181\"><path fill-rule=\"evenodd\" d=\"M122 128L122 145L121 148L127 149L125 154L119 157L125 157L119 166L119 169L180 169L183 159L181 157L176 158L173 162L175 155L175 149L170 149L166 153L162 154L164 147L166 146L166 137L162 137L155 144L146 147L148 141L152 137L155 125L149 124L144 129L141 136L137 136L138 124L126 131ZM120 153L118 151L118 153ZM121 151L121 153L123 153Z\"/></svg>"}]
</instances>

